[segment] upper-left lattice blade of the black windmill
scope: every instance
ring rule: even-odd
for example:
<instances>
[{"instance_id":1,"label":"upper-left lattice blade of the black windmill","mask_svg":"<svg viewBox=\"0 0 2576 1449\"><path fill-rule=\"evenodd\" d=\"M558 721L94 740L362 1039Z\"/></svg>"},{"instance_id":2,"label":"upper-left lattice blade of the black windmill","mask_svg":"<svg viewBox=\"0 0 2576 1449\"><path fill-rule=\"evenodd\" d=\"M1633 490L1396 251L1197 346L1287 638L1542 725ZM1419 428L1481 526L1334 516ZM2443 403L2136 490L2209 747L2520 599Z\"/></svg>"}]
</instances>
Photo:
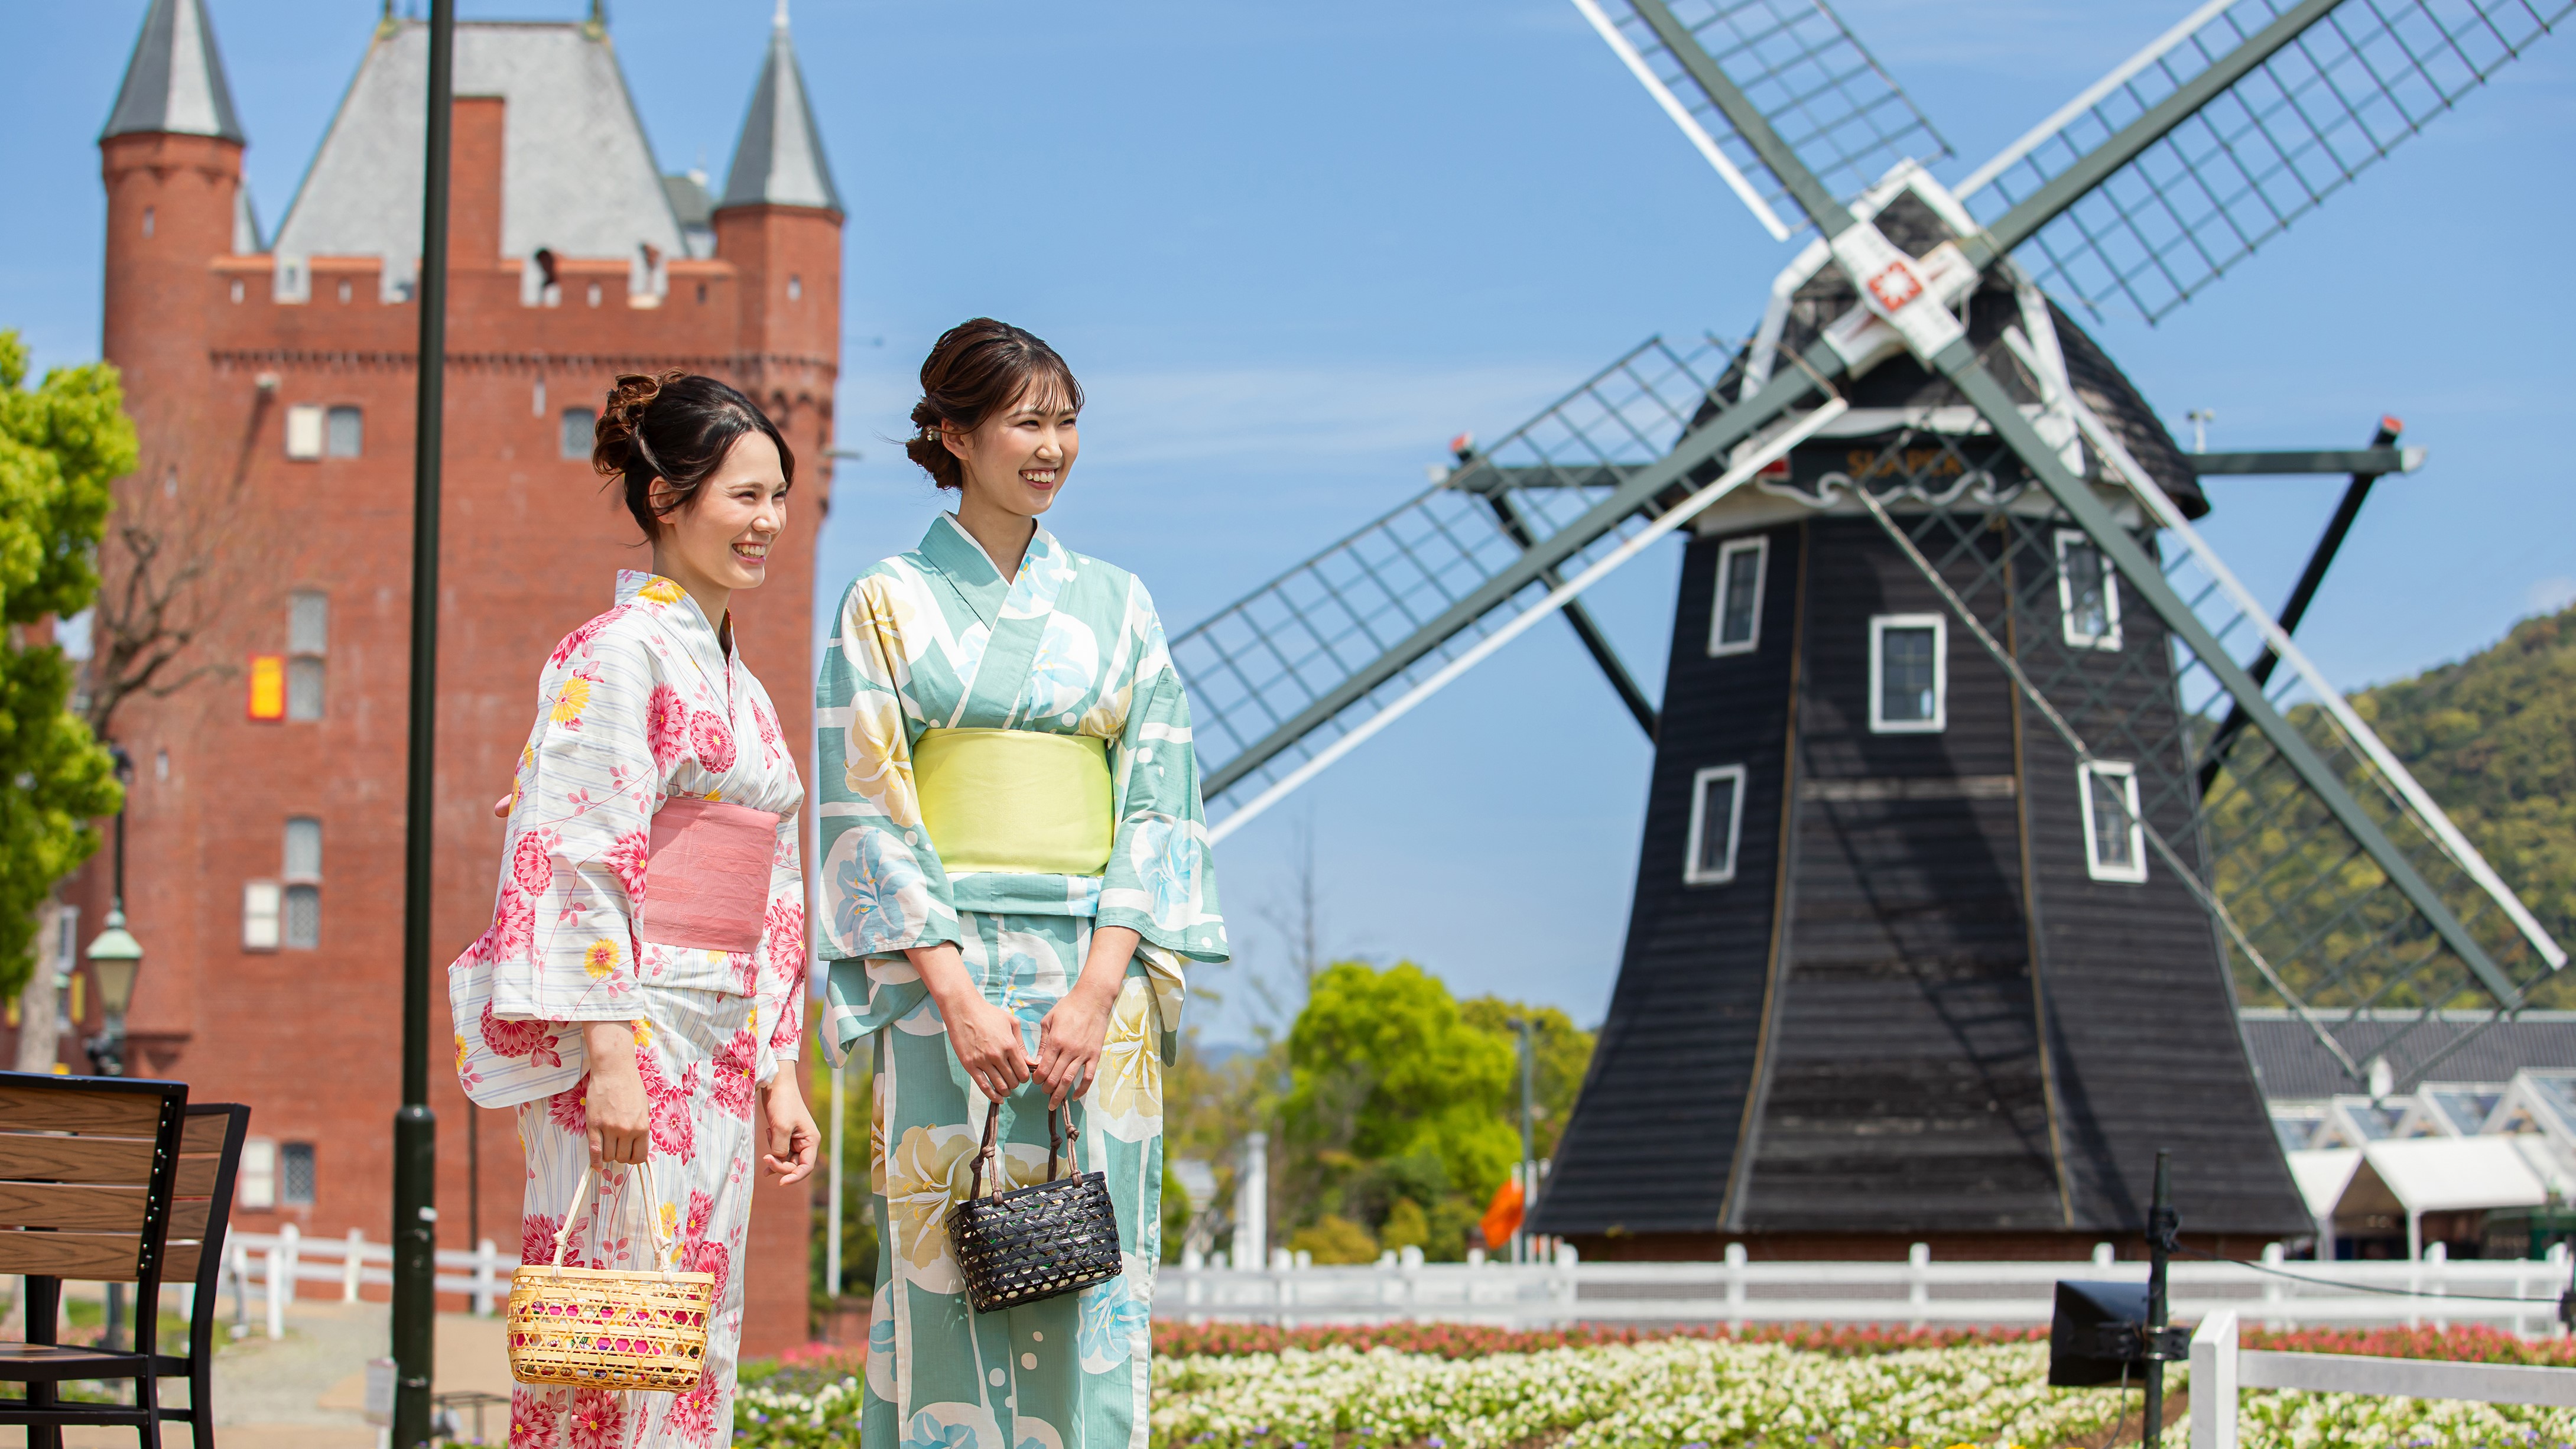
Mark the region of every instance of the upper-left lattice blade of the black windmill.
<instances>
[{"instance_id":1,"label":"upper-left lattice blade of the black windmill","mask_svg":"<svg viewBox=\"0 0 2576 1449\"><path fill-rule=\"evenodd\" d=\"M1752 188L1785 216L1801 216L1654 26L1628 0L1600 0L1600 10ZM1860 196L1896 162L1950 154L1950 142L1824 0L1672 0L1669 10L1834 196Z\"/></svg>"}]
</instances>

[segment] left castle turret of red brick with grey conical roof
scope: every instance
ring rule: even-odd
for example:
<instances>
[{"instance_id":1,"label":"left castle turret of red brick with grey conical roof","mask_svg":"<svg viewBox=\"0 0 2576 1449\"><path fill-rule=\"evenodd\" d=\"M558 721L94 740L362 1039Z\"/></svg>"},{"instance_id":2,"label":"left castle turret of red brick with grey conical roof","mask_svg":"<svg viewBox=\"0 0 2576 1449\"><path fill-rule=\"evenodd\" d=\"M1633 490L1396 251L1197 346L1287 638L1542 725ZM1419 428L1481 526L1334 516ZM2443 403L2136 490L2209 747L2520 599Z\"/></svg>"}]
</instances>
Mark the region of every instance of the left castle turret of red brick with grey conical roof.
<instances>
[{"instance_id":1,"label":"left castle turret of red brick with grey conical roof","mask_svg":"<svg viewBox=\"0 0 2576 1449\"><path fill-rule=\"evenodd\" d=\"M242 144L204 0L152 0L98 136L108 188L103 350L126 371L129 394L173 396L137 383L183 386L206 365L206 260L245 245ZM258 226L247 232L258 247Z\"/></svg>"}]
</instances>

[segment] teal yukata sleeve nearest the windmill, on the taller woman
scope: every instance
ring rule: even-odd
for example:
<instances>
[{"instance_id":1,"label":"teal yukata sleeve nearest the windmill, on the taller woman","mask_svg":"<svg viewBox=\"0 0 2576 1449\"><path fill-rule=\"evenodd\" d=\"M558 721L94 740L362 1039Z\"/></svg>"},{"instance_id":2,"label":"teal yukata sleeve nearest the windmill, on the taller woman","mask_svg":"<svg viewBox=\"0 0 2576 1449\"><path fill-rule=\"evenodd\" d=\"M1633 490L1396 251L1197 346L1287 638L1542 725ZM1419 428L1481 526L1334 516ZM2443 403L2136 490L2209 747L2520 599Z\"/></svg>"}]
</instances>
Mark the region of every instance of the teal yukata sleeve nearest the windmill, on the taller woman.
<instances>
[{"instance_id":1,"label":"teal yukata sleeve nearest the windmill, on the taller woman","mask_svg":"<svg viewBox=\"0 0 2576 1449\"><path fill-rule=\"evenodd\" d=\"M1118 826L1100 872L1095 927L1128 927L1136 955L1154 978L1164 1060L1180 1045L1182 963L1229 960L1226 919L1216 906L1216 860L1198 798L1198 749L1190 744L1190 695L1172 669L1162 618L1141 582L1128 582L1123 654L1133 674L1110 692L1128 695L1126 726L1110 759Z\"/></svg>"}]
</instances>

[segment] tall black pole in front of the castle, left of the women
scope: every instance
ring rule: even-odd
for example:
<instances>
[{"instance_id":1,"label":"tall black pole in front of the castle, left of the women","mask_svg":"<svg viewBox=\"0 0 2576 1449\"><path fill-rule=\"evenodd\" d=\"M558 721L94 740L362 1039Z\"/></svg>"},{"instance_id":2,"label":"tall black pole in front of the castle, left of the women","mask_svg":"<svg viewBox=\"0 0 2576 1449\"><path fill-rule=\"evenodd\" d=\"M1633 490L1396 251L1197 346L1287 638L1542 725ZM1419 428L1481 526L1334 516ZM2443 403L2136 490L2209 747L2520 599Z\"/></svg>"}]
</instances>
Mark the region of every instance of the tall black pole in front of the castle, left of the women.
<instances>
[{"instance_id":1,"label":"tall black pole in front of the castle, left of the women","mask_svg":"<svg viewBox=\"0 0 2576 1449\"><path fill-rule=\"evenodd\" d=\"M394 1112L394 1449L430 1439L438 1117L430 1114L430 831L438 782L438 443L448 373L448 134L456 0L430 0L420 188L420 417L412 440L412 759L402 849L402 1109Z\"/></svg>"}]
</instances>

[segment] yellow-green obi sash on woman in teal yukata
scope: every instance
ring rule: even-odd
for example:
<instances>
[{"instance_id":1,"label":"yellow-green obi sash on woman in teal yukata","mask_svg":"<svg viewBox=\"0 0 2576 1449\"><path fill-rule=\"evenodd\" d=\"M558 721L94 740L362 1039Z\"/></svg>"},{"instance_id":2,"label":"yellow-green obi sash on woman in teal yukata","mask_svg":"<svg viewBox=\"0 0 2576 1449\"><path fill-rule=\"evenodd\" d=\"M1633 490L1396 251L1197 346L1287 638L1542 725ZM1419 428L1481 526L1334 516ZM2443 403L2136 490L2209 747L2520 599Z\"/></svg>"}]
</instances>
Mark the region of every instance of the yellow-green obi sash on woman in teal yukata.
<instances>
[{"instance_id":1,"label":"yellow-green obi sash on woman in teal yukata","mask_svg":"<svg viewBox=\"0 0 2576 1449\"><path fill-rule=\"evenodd\" d=\"M1025 728L933 728L912 746L922 826L951 875L1100 875L1110 862L1105 739Z\"/></svg>"}]
</instances>

